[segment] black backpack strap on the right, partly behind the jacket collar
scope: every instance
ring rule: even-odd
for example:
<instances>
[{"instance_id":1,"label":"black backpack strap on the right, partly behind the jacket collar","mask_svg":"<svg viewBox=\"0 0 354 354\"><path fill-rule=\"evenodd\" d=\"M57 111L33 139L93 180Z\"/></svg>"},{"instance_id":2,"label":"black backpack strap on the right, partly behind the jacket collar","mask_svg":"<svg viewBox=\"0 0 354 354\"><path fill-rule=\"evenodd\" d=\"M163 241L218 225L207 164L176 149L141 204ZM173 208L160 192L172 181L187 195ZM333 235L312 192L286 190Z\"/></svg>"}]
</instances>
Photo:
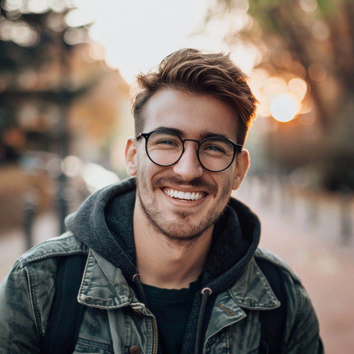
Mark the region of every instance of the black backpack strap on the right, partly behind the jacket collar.
<instances>
[{"instance_id":1,"label":"black backpack strap on the right, partly behind the jacket collar","mask_svg":"<svg viewBox=\"0 0 354 354\"><path fill-rule=\"evenodd\" d=\"M282 271L272 262L256 258L256 262L267 278L275 296L281 305L268 311L259 311L261 337L260 342L265 354L280 354L287 317L288 296Z\"/></svg>"}]
</instances>

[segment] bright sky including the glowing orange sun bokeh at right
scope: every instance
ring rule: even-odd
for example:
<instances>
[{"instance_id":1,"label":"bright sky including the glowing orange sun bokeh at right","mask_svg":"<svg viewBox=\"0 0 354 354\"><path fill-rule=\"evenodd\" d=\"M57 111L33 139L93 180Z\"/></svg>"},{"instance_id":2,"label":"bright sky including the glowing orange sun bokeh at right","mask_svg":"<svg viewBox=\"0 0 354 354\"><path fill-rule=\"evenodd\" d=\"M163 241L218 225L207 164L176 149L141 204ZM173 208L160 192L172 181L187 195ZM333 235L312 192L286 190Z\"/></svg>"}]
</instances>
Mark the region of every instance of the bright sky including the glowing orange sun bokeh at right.
<instances>
[{"instance_id":1,"label":"bright sky including the glowing orange sun bokeh at right","mask_svg":"<svg viewBox=\"0 0 354 354\"><path fill-rule=\"evenodd\" d=\"M258 70L262 71L260 77L254 67L262 61L261 50L241 37L234 37L230 47L224 41L228 33L252 27L247 0L234 0L231 11L213 16L207 23L207 11L217 9L216 0L72 0L72 5L76 9L67 14L67 25L78 27L92 23L91 38L103 45L107 65L119 69L132 94L136 90L137 74L146 73L175 50L190 47L230 51L234 62L251 77L252 91L260 101L260 115L272 114L275 119L286 122L301 110L300 101L306 93L302 79L292 80L288 87L285 79L269 77L264 70Z\"/></svg>"}]
</instances>

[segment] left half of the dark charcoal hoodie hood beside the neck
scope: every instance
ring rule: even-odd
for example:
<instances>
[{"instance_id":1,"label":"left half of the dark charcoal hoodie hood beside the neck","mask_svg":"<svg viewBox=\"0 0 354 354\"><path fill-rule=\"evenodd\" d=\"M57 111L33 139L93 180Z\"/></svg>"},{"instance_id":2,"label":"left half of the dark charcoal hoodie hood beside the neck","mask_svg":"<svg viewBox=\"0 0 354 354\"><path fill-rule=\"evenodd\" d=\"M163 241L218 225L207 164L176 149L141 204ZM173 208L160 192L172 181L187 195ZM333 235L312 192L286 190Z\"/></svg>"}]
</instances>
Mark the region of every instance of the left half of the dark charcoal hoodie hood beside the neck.
<instances>
[{"instance_id":1,"label":"left half of the dark charcoal hoodie hood beside the neck","mask_svg":"<svg viewBox=\"0 0 354 354\"><path fill-rule=\"evenodd\" d=\"M65 226L80 241L99 253L119 268L127 282L138 273L135 266L135 245L133 231L133 212L135 205L135 179L128 179L100 189L90 195L76 213L65 219ZM106 207L118 196L119 213L116 216L120 234L117 240L106 223Z\"/></svg>"}]
</instances>

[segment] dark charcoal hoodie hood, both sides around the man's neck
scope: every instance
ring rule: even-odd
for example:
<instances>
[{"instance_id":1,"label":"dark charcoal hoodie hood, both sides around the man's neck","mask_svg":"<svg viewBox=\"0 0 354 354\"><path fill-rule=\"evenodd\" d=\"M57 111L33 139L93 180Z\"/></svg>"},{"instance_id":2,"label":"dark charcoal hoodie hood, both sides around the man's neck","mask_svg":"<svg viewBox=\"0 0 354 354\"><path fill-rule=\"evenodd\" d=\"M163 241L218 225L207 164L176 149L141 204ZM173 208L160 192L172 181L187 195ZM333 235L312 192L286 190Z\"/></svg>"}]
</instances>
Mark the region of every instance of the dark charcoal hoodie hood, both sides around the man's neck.
<instances>
[{"instance_id":1,"label":"dark charcoal hoodie hood, both sides around the man's neck","mask_svg":"<svg viewBox=\"0 0 354 354\"><path fill-rule=\"evenodd\" d=\"M133 214L135 178L103 188L88 197L65 224L80 241L119 268L129 284L138 273ZM257 249L258 217L234 198L214 226L202 287L220 292L241 276Z\"/></svg>"}]
</instances>

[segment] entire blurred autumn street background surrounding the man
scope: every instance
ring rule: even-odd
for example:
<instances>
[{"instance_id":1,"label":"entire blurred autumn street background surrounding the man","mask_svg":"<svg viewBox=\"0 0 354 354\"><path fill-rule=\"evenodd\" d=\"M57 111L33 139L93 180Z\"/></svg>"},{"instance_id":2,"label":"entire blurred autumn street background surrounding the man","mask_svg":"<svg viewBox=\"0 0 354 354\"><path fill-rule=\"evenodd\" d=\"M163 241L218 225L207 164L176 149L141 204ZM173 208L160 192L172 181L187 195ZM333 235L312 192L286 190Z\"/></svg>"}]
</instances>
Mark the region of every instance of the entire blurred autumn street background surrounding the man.
<instances>
[{"instance_id":1,"label":"entire blurred autumn street background surrounding the man","mask_svg":"<svg viewBox=\"0 0 354 354\"><path fill-rule=\"evenodd\" d=\"M299 274L327 353L354 352L354 3L0 0L0 280L127 177L134 76L171 52L231 52L259 101L234 193Z\"/></svg>"}]
</instances>

